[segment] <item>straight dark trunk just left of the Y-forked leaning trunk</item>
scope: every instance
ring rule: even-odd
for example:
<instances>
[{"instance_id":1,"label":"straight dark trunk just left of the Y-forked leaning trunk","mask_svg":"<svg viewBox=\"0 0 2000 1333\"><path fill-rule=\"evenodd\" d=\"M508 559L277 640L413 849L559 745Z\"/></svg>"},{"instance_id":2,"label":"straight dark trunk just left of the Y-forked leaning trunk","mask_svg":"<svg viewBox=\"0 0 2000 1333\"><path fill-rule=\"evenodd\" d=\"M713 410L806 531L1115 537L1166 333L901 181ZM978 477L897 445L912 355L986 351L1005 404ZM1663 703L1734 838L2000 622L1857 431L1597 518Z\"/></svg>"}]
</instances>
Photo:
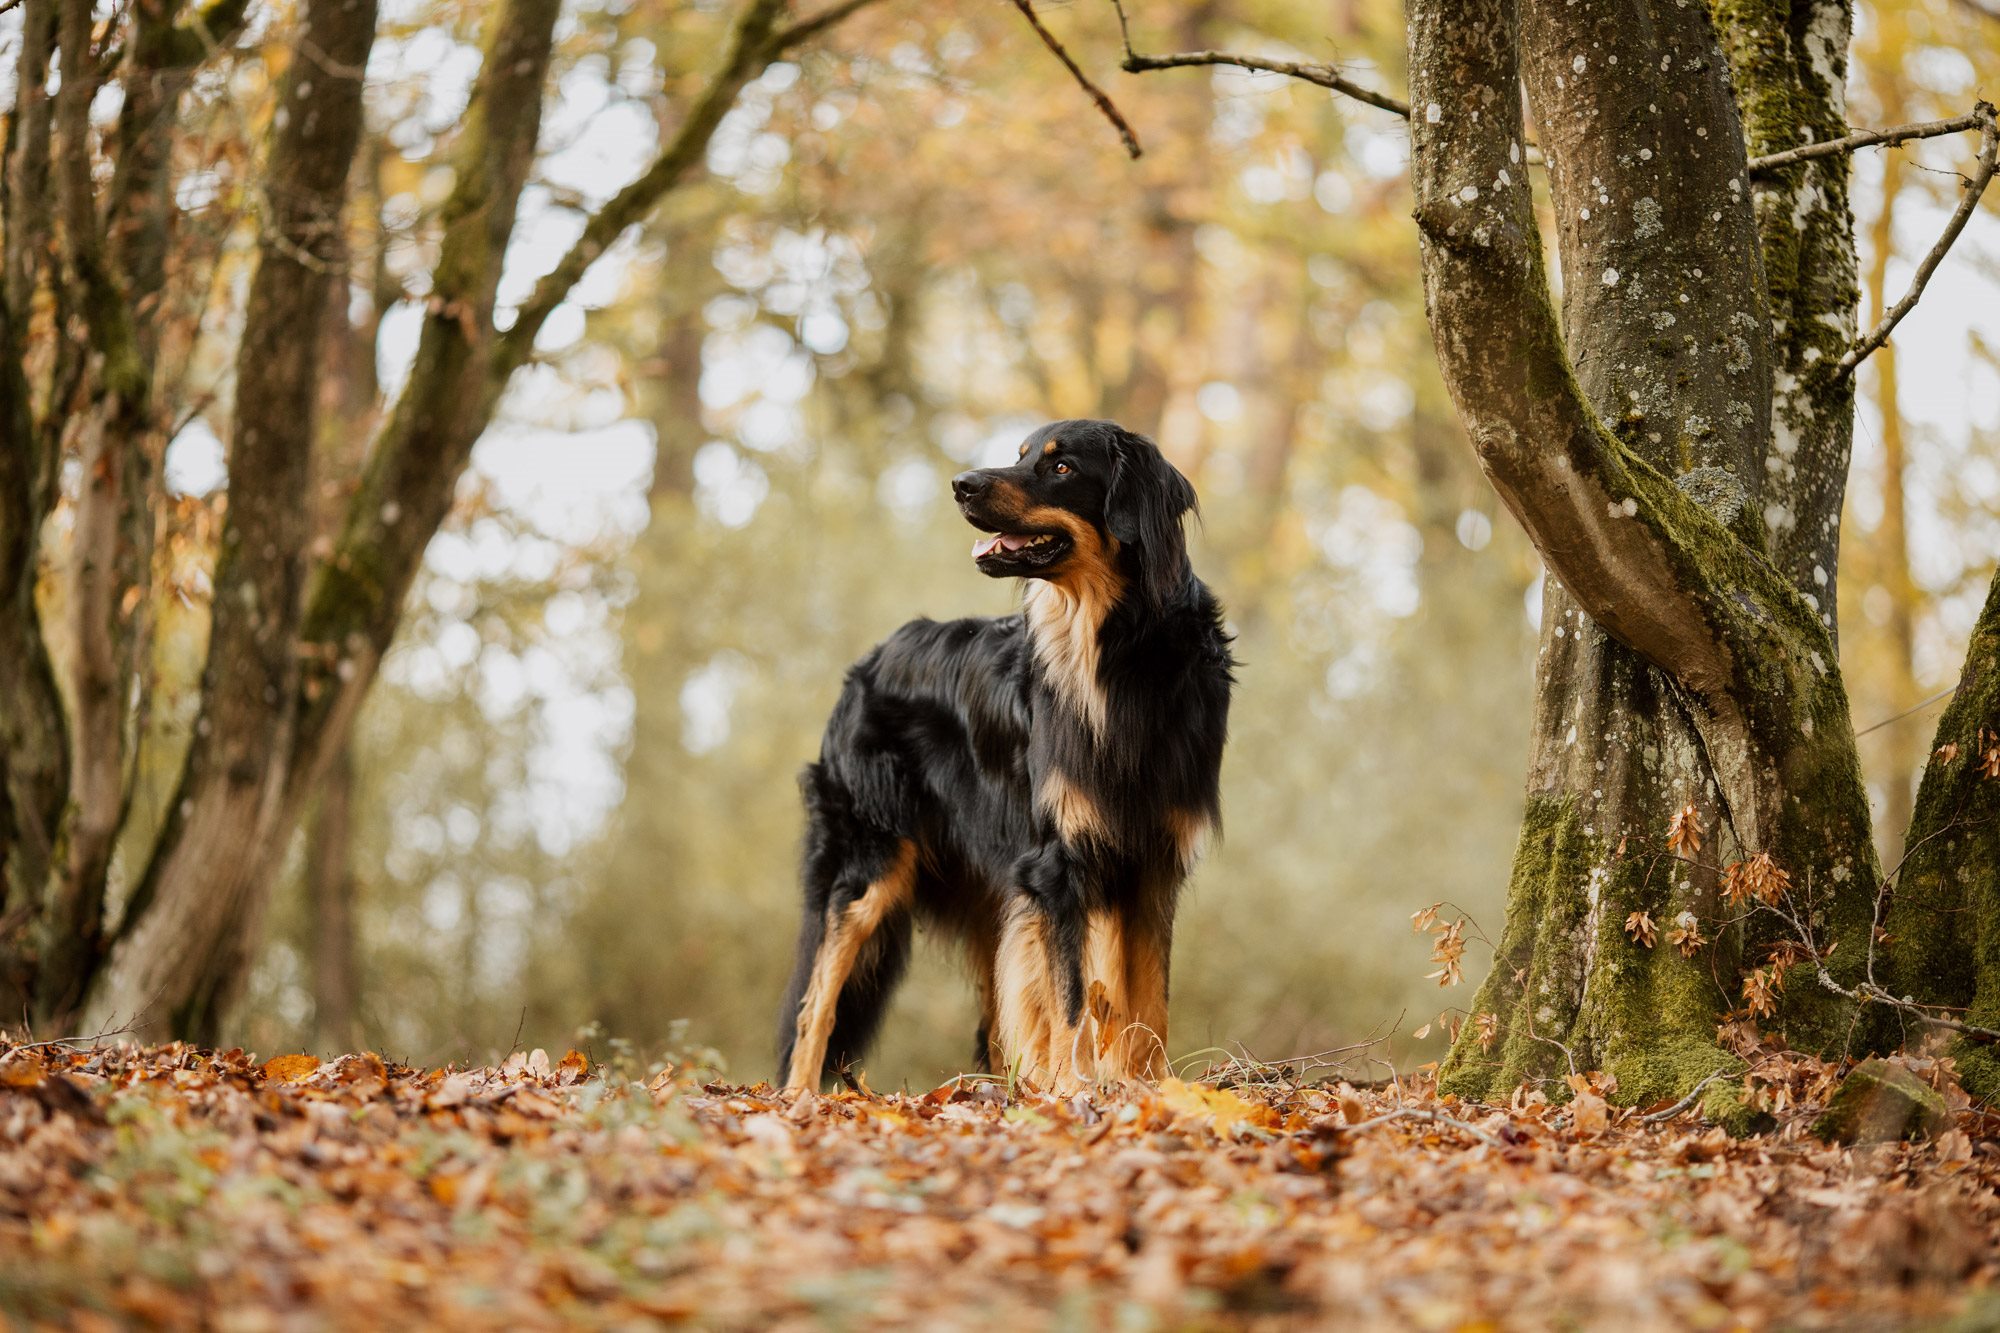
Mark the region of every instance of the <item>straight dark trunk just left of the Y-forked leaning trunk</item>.
<instances>
[{"instance_id":1,"label":"straight dark trunk just left of the Y-forked leaning trunk","mask_svg":"<svg viewBox=\"0 0 2000 1333\"><path fill-rule=\"evenodd\" d=\"M202 713L182 791L132 923L112 947L94 1017L212 1041L284 853L296 747L294 640L324 308L340 270L348 166L362 128L374 0L314 0L278 94L270 216L236 360L230 508Z\"/></svg>"}]
</instances>

